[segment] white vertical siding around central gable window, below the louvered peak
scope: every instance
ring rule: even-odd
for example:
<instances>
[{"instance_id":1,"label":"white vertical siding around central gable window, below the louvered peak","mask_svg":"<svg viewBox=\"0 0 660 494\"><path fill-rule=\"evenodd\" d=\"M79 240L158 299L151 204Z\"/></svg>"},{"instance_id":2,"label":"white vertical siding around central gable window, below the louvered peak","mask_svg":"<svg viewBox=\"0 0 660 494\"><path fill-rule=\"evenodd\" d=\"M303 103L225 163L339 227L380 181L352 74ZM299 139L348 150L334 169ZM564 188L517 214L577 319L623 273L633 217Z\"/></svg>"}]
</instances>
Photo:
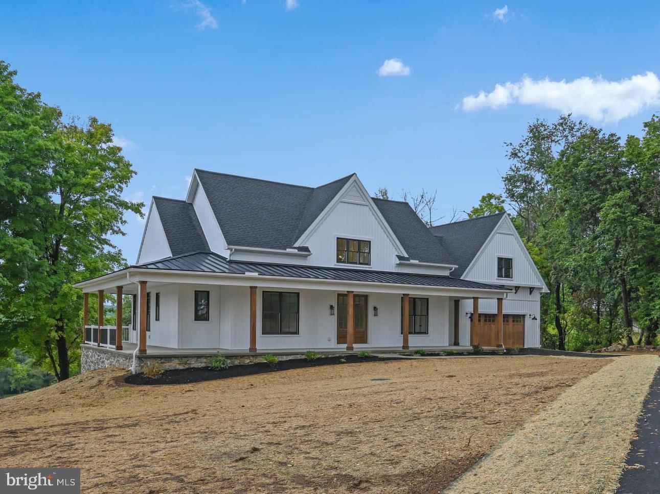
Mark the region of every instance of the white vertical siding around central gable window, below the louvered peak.
<instances>
[{"instance_id":1,"label":"white vertical siding around central gable window, below the louvered peak","mask_svg":"<svg viewBox=\"0 0 660 494\"><path fill-rule=\"evenodd\" d=\"M316 266L337 265L338 236L371 240L371 269L394 270L397 250L370 206L348 202L337 203L306 242L312 250L308 263ZM342 266L346 265L342 264ZM349 267L354 266L349 265Z\"/></svg>"}]
</instances>

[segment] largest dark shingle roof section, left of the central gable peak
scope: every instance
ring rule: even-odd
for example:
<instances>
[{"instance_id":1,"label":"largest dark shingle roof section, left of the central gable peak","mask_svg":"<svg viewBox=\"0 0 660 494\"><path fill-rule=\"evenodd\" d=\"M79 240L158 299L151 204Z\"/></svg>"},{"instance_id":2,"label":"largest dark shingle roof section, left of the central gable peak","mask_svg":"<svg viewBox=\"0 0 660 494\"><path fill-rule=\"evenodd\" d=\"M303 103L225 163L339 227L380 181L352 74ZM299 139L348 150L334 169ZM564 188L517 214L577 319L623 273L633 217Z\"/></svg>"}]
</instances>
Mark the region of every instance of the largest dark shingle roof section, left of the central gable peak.
<instances>
[{"instance_id":1,"label":"largest dark shingle roof section, left of the central gable peak","mask_svg":"<svg viewBox=\"0 0 660 494\"><path fill-rule=\"evenodd\" d=\"M228 245L292 247L348 177L317 188L197 169Z\"/></svg>"}]
</instances>

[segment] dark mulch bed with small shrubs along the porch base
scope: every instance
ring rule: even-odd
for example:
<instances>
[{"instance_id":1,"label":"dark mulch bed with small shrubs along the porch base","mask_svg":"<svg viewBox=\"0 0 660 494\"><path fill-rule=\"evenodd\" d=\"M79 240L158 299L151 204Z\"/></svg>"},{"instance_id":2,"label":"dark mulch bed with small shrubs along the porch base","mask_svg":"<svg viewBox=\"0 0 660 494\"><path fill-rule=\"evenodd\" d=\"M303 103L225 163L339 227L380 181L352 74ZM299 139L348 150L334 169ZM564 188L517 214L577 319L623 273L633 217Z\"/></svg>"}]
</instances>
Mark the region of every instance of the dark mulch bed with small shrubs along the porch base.
<instances>
[{"instance_id":1,"label":"dark mulch bed with small shrubs along the porch base","mask_svg":"<svg viewBox=\"0 0 660 494\"><path fill-rule=\"evenodd\" d=\"M341 364L364 364L365 362L384 362L385 360L397 360L397 358L345 355L342 357L319 357L311 362L304 358L290 358L288 360L280 360L275 366L271 366L271 364L267 364L267 362L256 362L255 364L231 366L225 370L215 370L210 367L166 370L156 377L149 377L144 373L139 373L129 375L125 379L125 383L137 385L201 383L202 381L215 381L217 379L228 379L230 377L241 377L244 375L271 373L283 370Z\"/></svg>"}]
</instances>

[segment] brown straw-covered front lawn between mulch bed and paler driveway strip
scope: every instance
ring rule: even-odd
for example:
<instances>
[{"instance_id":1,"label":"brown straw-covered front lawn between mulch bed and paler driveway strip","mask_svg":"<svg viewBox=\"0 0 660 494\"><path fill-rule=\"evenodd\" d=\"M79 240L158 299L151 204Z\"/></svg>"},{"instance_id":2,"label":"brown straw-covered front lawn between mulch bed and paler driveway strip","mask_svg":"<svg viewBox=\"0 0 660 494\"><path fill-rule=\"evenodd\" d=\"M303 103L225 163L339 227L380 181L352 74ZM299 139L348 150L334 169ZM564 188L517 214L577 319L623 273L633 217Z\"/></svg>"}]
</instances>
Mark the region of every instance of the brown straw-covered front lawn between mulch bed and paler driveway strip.
<instances>
[{"instance_id":1,"label":"brown straw-covered front lawn between mulch bed and paler driveway strip","mask_svg":"<svg viewBox=\"0 0 660 494\"><path fill-rule=\"evenodd\" d=\"M79 467L98 493L438 493L611 362L393 360L148 387L94 371L0 400L0 464Z\"/></svg>"}]
</instances>

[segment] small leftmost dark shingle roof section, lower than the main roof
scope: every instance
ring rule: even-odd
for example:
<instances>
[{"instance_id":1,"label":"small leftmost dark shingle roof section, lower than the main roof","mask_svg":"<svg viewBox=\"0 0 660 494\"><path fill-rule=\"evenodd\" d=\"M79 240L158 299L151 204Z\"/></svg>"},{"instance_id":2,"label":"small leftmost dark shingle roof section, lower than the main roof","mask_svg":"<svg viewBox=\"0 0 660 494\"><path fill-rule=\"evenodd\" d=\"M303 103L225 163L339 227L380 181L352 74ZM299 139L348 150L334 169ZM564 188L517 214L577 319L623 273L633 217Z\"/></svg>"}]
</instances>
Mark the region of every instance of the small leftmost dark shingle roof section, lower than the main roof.
<instances>
[{"instance_id":1,"label":"small leftmost dark shingle roof section, lower than the main roof","mask_svg":"<svg viewBox=\"0 0 660 494\"><path fill-rule=\"evenodd\" d=\"M161 197L154 197L154 204L158 209L172 256L209 250L192 204Z\"/></svg>"}]
</instances>

